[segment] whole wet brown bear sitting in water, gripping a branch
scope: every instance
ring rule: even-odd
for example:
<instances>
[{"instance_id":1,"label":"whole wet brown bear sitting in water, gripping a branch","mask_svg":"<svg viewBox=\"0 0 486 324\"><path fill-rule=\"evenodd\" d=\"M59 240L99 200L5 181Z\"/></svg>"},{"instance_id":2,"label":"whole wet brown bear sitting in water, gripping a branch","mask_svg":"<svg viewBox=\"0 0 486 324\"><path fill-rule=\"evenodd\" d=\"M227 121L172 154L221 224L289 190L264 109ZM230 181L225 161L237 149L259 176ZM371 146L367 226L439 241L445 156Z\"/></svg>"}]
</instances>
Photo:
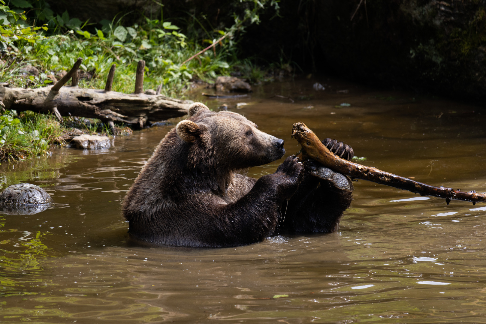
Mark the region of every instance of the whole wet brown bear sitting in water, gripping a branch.
<instances>
[{"instance_id":1,"label":"whole wet brown bear sitting in water, gripping a branch","mask_svg":"<svg viewBox=\"0 0 486 324\"><path fill-rule=\"evenodd\" d=\"M227 247L283 230L331 232L351 202L342 174L289 156L273 174L250 167L281 158L284 141L242 115L195 102L158 144L123 201L129 233L161 245ZM342 145L341 145L342 146Z\"/></svg>"}]
</instances>

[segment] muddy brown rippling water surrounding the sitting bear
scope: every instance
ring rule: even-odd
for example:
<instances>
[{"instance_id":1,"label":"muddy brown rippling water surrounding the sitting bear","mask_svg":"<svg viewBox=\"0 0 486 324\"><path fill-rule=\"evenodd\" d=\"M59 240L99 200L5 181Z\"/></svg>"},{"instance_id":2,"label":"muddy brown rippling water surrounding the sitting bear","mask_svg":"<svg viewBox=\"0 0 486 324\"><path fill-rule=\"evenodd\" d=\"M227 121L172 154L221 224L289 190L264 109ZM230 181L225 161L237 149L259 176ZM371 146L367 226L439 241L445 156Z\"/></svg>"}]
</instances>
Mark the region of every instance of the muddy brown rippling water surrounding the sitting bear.
<instances>
[{"instance_id":1,"label":"muddy brown rippling water surrounding the sitting bear","mask_svg":"<svg viewBox=\"0 0 486 324\"><path fill-rule=\"evenodd\" d=\"M209 100L200 90L193 99L213 109L228 104L283 138L286 156L298 151L290 131L303 121L321 138L345 140L366 165L486 191L484 110L320 81L328 85L319 93L305 80L238 100ZM268 99L273 94L295 102ZM238 102L249 104L236 109ZM485 204L446 205L359 181L334 234L225 249L134 244L120 202L172 127L116 138L105 151L64 148L1 165L3 188L28 181L55 204L36 215L0 215L0 322L486 323Z\"/></svg>"}]
</instances>

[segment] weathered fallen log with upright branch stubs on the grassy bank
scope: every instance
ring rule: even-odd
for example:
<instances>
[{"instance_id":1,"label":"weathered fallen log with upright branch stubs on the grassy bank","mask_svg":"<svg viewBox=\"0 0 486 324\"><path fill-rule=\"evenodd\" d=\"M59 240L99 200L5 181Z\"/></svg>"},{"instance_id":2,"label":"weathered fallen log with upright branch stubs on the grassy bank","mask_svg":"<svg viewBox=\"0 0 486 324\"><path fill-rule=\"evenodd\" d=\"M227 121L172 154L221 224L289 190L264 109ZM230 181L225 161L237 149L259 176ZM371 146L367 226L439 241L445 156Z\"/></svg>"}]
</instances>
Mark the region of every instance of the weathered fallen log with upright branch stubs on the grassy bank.
<instances>
[{"instance_id":1,"label":"weathered fallen log with upright branch stubs on the grassy bank","mask_svg":"<svg viewBox=\"0 0 486 324\"><path fill-rule=\"evenodd\" d=\"M143 127L147 121L159 121L184 116L191 101L144 93L125 94L111 91L115 68L110 70L105 89L87 89L64 86L69 78L77 75L81 59L59 82L53 86L35 89L10 88L0 85L0 105L17 112L31 110L61 116L97 118L103 122L124 122ZM76 80L75 80L76 81ZM76 81L77 82L77 81ZM138 78L136 91L141 91L143 76Z\"/></svg>"}]
</instances>

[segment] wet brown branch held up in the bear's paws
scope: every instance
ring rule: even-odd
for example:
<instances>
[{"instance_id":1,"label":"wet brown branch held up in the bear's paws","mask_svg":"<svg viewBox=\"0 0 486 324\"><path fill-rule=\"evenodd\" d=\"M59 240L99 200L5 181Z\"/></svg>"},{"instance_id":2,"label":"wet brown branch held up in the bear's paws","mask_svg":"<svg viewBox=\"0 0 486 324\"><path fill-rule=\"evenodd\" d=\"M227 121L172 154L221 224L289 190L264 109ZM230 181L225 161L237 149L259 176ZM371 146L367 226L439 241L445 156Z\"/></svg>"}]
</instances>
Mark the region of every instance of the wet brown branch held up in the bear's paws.
<instances>
[{"instance_id":1,"label":"wet brown branch held up in the bear's paws","mask_svg":"<svg viewBox=\"0 0 486 324\"><path fill-rule=\"evenodd\" d=\"M378 170L373 167L353 163L331 153L319 138L302 123L295 123L292 128L294 137L302 146L299 153L301 160L312 158L335 172L349 175L351 178L363 179L376 182L382 185L404 189L420 194L421 196L434 196L445 198L449 205L451 199L472 202L486 202L486 193L476 193L476 191L461 191L446 187L434 187L399 175Z\"/></svg>"}]
</instances>

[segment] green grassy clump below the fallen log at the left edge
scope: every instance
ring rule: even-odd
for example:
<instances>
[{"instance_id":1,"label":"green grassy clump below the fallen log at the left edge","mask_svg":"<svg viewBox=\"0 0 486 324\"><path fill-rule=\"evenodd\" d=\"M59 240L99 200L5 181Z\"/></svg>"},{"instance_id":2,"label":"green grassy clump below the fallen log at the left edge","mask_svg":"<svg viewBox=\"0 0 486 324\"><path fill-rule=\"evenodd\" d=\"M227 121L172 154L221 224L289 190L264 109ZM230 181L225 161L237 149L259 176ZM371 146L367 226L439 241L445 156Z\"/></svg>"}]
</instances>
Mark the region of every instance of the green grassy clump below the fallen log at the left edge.
<instances>
[{"instance_id":1,"label":"green grassy clump below the fallen log at the left edge","mask_svg":"<svg viewBox=\"0 0 486 324\"><path fill-rule=\"evenodd\" d=\"M62 128L50 116L15 110L0 113L0 161L43 155L61 135Z\"/></svg>"}]
</instances>

